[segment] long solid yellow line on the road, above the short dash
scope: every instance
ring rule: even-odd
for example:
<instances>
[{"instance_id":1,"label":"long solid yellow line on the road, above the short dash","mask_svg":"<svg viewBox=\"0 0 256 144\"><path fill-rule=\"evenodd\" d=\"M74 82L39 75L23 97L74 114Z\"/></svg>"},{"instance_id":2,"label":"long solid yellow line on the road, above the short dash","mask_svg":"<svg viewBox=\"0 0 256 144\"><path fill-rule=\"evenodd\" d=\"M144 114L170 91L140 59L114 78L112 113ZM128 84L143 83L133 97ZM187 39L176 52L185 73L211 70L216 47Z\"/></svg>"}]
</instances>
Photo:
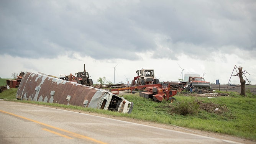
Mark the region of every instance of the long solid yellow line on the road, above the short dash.
<instances>
[{"instance_id":1,"label":"long solid yellow line on the road, above the short dash","mask_svg":"<svg viewBox=\"0 0 256 144\"><path fill-rule=\"evenodd\" d=\"M26 120L28 120L28 121L33 121L34 123L38 123L38 124L41 124L41 125L43 125L43 126L47 126L47 127L49 127L49 128L57 129L57 130L59 130L59 131L63 131L63 132L69 133L69 134L71 134L72 136L75 136L75 137L78 137L78 138L89 139L90 141L94 141L94 142L97 142L97 143L99 143L99 144L107 144L107 143L105 143L105 142L98 141L97 139L93 139L93 138L88 137L88 136L83 136L83 135L81 135L81 134L73 133L73 132L71 132L71 131L67 131L67 130L65 130L65 129L61 129L61 128L57 128L57 127L54 127L54 126L51 126L51 125L48 125L48 124L45 124L45 123L41 123L41 122L35 121L35 120L33 120L33 119L29 119L29 118L25 118L25 117L23 117L23 116L15 115L15 114L13 114L13 113L8 113L8 112L2 111L2 110L0 110L0 112L2 112L2 113L7 113L7 114L13 115L13 116L17 116L17 117L19 117L19 118L23 118L23 119L26 119Z\"/></svg>"}]
</instances>

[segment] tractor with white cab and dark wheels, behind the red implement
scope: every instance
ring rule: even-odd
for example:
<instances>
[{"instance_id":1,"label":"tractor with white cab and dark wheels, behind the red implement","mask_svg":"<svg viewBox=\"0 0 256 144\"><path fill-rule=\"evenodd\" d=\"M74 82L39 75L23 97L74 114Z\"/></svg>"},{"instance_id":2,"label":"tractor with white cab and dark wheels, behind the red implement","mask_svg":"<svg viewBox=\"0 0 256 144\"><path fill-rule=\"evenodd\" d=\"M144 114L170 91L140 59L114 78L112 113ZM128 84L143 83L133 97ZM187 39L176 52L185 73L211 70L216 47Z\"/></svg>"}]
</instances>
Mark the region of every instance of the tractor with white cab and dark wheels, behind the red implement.
<instances>
[{"instance_id":1,"label":"tractor with white cab and dark wheels, behind the red implement","mask_svg":"<svg viewBox=\"0 0 256 144\"><path fill-rule=\"evenodd\" d=\"M136 71L137 76L131 82L131 85L149 85L149 84L158 84L159 79L154 79L154 70L153 69L141 69Z\"/></svg>"}]
</instances>

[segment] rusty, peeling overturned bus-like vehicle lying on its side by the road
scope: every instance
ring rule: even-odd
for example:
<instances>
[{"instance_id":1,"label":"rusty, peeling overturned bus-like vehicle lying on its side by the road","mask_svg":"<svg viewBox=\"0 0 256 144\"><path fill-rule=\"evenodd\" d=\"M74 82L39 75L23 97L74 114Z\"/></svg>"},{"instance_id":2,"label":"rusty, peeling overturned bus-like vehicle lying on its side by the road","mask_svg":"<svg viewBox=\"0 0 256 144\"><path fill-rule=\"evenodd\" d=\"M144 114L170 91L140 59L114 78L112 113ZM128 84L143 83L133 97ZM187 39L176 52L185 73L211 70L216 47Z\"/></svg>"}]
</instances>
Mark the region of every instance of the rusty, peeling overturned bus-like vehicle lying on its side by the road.
<instances>
[{"instance_id":1,"label":"rusty, peeling overturned bus-like vehicle lying on its side by the road","mask_svg":"<svg viewBox=\"0 0 256 144\"><path fill-rule=\"evenodd\" d=\"M26 72L16 94L18 100L42 101L64 105L131 113L133 103L107 90Z\"/></svg>"}]
</instances>

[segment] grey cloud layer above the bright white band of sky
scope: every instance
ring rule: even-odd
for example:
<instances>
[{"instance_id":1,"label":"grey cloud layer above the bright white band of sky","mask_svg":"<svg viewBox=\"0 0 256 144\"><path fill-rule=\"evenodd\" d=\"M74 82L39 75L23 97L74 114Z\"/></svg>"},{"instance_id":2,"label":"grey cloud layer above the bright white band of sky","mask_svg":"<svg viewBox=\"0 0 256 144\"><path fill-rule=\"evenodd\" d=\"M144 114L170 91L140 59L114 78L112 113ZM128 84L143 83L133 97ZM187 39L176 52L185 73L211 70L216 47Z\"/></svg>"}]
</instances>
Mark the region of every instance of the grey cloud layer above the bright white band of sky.
<instances>
[{"instance_id":1,"label":"grey cloud layer above the bright white band of sky","mask_svg":"<svg viewBox=\"0 0 256 144\"><path fill-rule=\"evenodd\" d=\"M255 13L253 0L1 1L1 54L138 60L135 52L152 51L177 60L237 47L255 59Z\"/></svg>"}]
</instances>

